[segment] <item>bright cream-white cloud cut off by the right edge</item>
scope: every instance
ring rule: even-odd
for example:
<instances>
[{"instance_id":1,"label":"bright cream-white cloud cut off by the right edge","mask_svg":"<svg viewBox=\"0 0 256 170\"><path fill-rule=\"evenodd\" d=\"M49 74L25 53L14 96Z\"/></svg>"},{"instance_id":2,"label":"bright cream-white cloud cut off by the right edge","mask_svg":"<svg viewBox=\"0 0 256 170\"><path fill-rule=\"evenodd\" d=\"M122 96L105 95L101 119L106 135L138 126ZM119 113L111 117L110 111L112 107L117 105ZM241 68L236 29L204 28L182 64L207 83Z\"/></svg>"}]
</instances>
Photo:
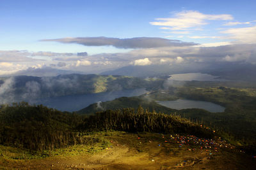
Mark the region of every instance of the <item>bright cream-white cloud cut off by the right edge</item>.
<instances>
[{"instance_id":1,"label":"bright cream-white cloud cut off by the right edge","mask_svg":"<svg viewBox=\"0 0 256 170\"><path fill-rule=\"evenodd\" d=\"M252 27L230 28L221 33L229 34L228 38L234 39L234 43L256 43L256 25Z\"/></svg>"}]
</instances>

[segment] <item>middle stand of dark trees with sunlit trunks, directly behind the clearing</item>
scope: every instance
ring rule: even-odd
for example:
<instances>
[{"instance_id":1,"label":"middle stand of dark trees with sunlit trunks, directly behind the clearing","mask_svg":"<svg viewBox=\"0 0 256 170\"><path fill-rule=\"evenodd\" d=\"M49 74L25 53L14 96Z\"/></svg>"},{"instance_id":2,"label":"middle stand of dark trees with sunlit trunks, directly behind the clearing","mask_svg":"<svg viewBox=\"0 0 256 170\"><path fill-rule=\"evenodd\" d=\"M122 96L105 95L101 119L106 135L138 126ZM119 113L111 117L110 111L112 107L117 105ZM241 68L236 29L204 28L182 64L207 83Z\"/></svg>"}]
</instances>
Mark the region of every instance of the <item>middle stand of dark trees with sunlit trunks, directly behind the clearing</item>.
<instances>
[{"instance_id":1,"label":"middle stand of dark trees with sunlit trunks, directly behind the clearing","mask_svg":"<svg viewBox=\"0 0 256 170\"><path fill-rule=\"evenodd\" d=\"M114 130L127 132L159 132L193 134L198 137L212 138L211 129L205 129L199 124L193 124L186 118L164 113L149 112L140 106L137 113L132 108L107 110L86 117L79 125L80 131Z\"/></svg>"}]
</instances>

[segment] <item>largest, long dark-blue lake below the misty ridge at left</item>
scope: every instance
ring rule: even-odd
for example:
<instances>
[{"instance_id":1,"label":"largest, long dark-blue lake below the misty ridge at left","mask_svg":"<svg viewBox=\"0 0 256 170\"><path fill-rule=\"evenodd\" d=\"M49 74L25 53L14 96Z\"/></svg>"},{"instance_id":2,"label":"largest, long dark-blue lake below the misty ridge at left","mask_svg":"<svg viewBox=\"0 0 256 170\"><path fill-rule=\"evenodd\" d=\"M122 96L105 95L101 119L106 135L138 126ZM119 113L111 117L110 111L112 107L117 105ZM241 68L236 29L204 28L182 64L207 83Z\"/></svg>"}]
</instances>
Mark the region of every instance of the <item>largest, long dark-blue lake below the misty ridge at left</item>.
<instances>
[{"instance_id":1,"label":"largest, long dark-blue lake below the misty ridge at left","mask_svg":"<svg viewBox=\"0 0 256 170\"><path fill-rule=\"evenodd\" d=\"M78 111L86 108L90 104L97 103L99 101L111 101L118 97L132 97L145 94L145 89L134 90L118 90L114 92L102 92L97 94L81 94L72 96L61 96L40 99L35 104L43 104L49 108L55 108L61 111Z\"/></svg>"}]
</instances>

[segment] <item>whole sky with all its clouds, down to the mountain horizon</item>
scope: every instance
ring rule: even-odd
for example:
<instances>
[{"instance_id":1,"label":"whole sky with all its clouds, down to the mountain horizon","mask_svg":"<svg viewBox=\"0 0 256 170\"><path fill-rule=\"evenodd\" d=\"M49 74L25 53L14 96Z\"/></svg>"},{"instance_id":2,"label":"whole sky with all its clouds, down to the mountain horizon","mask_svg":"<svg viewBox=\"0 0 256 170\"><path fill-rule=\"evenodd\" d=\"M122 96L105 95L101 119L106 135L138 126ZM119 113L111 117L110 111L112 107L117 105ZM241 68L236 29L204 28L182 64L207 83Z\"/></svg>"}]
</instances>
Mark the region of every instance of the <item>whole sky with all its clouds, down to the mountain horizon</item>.
<instances>
[{"instance_id":1,"label":"whole sky with all its clouds, down to the mountain horizon","mask_svg":"<svg viewBox=\"0 0 256 170\"><path fill-rule=\"evenodd\" d=\"M255 6L234 0L0 0L0 74L42 67L97 73L156 63L254 64ZM222 53L213 55L219 48Z\"/></svg>"}]
</instances>

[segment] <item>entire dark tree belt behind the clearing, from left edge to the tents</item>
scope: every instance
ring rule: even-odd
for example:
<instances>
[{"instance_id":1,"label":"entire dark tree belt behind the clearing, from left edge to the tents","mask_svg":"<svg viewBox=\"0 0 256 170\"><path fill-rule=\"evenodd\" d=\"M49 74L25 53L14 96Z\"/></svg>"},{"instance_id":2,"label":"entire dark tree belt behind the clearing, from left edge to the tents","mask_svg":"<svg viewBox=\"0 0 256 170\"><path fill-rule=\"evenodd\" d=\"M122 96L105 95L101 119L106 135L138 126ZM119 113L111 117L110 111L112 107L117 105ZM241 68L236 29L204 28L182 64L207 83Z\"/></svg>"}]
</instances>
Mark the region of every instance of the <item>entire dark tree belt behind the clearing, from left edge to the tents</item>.
<instances>
[{"instance_id":1,"label":"entire dark tree belt behind the clearing, from left edge to the tents","mask_svg":"<svg viewBox=\"0 0 256 170\"><path fill-rule=\"evenodd\" d=\"M99 142L84 136L91 131L127 131L184 133L212 138L210 129L193 124L185 118L144 111L139 107L122 111L108 110L90 117L61 112L45 106L15 103L0 108L0 144L29 150L52 150L76 144Z\"/></svg>"}]
</instances>

